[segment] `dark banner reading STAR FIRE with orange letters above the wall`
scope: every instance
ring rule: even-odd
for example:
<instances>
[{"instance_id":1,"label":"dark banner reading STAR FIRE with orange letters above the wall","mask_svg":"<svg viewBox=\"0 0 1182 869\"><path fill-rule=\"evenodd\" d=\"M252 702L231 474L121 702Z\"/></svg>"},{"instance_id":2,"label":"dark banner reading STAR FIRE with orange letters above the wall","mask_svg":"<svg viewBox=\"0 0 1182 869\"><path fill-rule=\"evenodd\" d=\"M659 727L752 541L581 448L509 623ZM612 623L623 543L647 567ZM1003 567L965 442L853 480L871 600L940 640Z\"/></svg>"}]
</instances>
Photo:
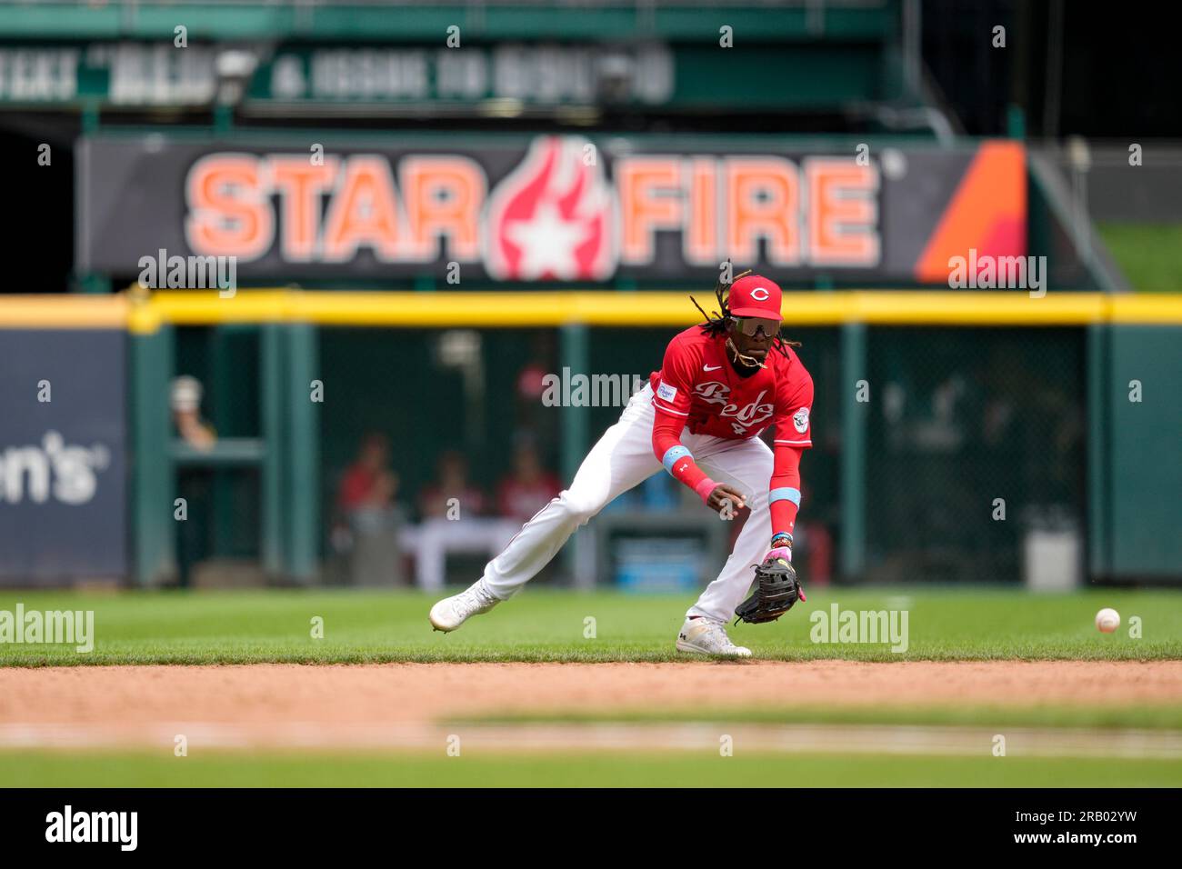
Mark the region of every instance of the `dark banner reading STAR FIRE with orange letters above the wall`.
<instances>
[{"instance_id":1,"label":"dark banner reading STAR FIRE with orange letters above the wall","mask_svg":"<svg viewBox=\"0 0 1182 869\"><path fill-rule=\"evenodd\" d=\"M245 280L713 285L729 258L785 281L872 286L947 285L953 258L1026 254L1025 150L1008 141L243 142L84 141L79 267L162 288L215 258Z\"/></svg>"}]
</instances>

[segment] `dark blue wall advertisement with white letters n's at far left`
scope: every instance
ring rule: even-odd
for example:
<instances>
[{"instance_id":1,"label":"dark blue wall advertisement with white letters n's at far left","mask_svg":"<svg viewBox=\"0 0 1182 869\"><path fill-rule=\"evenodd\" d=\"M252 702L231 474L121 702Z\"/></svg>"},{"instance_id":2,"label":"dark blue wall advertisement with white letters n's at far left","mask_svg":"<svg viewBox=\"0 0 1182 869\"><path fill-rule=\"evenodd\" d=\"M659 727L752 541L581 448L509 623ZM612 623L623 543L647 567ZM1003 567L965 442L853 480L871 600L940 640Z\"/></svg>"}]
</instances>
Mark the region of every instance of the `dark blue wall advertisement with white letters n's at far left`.
<instances>
[{"instance_id":1,"label":"dark blue wall advertisement with white letters n's at far left","mask_svg":"<svg viewBox=\"0 0 1182 869\"><path fill-rule=\"evenodd\" d=\"M126 573L125 344L0 324L0 585Z\"/></svg>"}]
</instances>

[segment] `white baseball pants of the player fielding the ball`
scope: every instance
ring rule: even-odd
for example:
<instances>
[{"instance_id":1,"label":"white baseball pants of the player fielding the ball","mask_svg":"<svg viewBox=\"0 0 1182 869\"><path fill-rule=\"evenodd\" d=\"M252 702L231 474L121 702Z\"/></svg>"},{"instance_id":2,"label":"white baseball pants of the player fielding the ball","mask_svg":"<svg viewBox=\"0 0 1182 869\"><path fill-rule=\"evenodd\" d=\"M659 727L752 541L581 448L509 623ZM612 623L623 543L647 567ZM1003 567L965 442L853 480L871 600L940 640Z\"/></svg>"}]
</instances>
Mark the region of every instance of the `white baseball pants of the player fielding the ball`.
<instances>
[{"instance_id":1,"label":"white baseball pants of the player fielding the ball","mask_svg":"<svg viewBox=\"0 0 1182 869\"><path fill-rule=\"evenodd\" d=\"M604 432L591 448L570 488L538 511L508 546L485 566L488 590L508 599L537 576L580 525L586 525L613 498L652 474L664 473L652 454L652 388L636 393L619 422ZM719 621L734 617L754 578L752 565L762 560L772 537L767 487L772 478L772 450L758 437L730 440L694 435L686 428L681 442L697 466L715 482L741 492L751 515L719 578L706 586L687 616ZM702 510L707 510L703 505Z\"/></svg>"}]
</instances>

